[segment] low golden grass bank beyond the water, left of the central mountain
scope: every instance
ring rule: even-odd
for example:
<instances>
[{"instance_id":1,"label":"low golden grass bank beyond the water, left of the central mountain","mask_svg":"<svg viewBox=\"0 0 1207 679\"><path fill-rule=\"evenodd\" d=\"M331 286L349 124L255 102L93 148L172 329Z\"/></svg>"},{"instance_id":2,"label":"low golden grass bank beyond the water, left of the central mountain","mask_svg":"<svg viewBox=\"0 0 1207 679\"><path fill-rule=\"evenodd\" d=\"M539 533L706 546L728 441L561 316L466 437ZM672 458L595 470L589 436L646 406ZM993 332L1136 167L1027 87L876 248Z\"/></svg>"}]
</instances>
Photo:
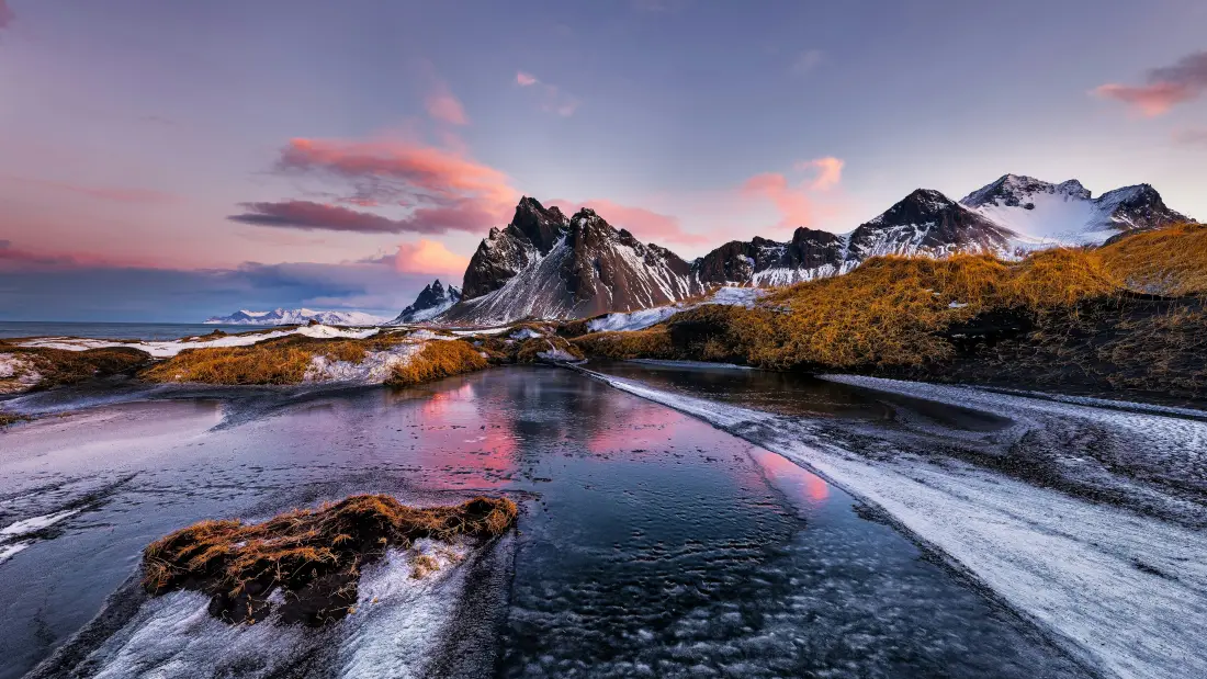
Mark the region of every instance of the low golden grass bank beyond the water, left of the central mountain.
<instances>
[{"instance_id":1,"label":"low golden grass bank beyond the water, left of the central mountain","mask_svg":"<svg viewBox=\"0 0 1207 679\"><path fill-rule=\"evenodd\" d=\"M206 385L296 385L317 356L360 363L371 351L384 351L406 340L401 333L367 339L319 339L288 335L249 346L186 349L142 373L152 382Z\"/></svg>"}]
</instances>

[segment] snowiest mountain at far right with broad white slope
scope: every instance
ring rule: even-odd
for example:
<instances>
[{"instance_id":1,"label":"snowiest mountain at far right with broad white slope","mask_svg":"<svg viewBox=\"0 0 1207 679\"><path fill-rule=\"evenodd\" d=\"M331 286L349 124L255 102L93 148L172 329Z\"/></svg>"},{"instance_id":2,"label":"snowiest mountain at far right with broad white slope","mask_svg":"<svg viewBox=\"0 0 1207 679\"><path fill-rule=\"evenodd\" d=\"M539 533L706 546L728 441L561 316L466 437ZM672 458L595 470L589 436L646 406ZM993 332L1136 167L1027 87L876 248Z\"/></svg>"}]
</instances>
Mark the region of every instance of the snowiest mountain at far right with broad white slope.
<instances>
[{"instance_id":1,"label":"snowiest mountain at far right with broad white slope","mask_svg":"<svg viewBox=\"0 0 1207 679\"><path fill-rule=\"evenodd\" d=\"M960 201L1018 234L1016 250L1053 245L1102 245L1132 230L1190 222L1165 205L1151 186L1116 188L1094 198L1077 180L1054 185L1004 175Z\"/></svg>"}]
</instances>

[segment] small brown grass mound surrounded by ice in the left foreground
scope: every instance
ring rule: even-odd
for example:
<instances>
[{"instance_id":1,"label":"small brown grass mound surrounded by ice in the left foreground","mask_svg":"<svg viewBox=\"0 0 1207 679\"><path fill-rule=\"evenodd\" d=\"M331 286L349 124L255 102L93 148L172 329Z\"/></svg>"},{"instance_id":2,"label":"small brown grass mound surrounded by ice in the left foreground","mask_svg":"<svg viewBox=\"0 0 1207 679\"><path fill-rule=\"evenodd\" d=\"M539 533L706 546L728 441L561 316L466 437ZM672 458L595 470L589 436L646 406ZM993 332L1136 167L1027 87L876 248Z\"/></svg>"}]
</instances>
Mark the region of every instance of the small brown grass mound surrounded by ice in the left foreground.
<instances>
[{"instance_id":1,"label":"small brown grass mound surrounded by ice in the left foreground","mask_svg":"<svg viewBox=\"0 0 1207 679\"><path fill-rule=\"evenodd\" d=\"M361 568L387 548L407 549L421 538L492 538L515 515L507 498L412 508L389 496L354 496L263 523L202 521L146 548L144 586L152 595L200 591L211 597L210 614L228 622L275 611L285 622L322 625L352 611ZM275 591L284 603L268 601Z\"/></svg>"}]
</instances>

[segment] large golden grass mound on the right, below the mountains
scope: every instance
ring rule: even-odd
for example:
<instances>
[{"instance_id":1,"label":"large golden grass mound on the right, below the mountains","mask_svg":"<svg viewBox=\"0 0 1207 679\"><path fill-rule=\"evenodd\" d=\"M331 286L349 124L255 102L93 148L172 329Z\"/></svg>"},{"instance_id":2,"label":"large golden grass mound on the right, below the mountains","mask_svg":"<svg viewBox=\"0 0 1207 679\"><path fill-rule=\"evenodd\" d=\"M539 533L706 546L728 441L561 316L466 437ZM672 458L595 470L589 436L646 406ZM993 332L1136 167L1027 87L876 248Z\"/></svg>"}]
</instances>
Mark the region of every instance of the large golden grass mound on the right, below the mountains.
<instances>
[{"instance_id":1,"label":"large golden grass mound on the right, below the mountains","mask_svg":"<svg viewBox=\"0 0 1207 679\"><path fill-rule=\"evenodd\" d=\"M1018 263L989 256L881 257L844 276L772 292L754 309L704 305L637 333L573 341L613 358L731 361L771 369L921 365L946 359L941 330L991 309L1040 312L1120 286L1085 250Z\"/></svg>"}]
</instances>

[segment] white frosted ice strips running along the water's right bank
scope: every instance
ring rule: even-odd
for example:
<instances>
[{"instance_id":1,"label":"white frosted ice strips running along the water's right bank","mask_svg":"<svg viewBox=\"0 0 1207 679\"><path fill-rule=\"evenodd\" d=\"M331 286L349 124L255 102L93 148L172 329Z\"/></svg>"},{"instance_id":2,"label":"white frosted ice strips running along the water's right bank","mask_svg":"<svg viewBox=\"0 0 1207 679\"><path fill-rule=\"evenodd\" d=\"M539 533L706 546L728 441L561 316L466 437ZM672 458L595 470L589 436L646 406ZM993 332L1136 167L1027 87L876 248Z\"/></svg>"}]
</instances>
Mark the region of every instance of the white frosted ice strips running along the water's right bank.
<instances>
[{"instance_id":1,"label":"white frosted ice strips running along the water's right bank","mask_svg":"<svg viewBox=\"0 0 1207 679\"><path fill-rule=\"evenodd\" d=\"M1207 628L1207 534L1200 527L1038 487L938 451L894 450L884 441L876 450L857 450L849 443L836 444L820 422L591 374L774 450L879 505L1107 675L1207 677L1202 634ZM1195 468L1207 450L1207 425L1197 421L962 387L864 377L842 381L963 406L992 405L995 411L1026 416L1032 423L1042 423L1043 412L1081 418L1139 445L1162 440L1161 455L1180 455L1183 463Z\"/></svg>"}]
</instances>

